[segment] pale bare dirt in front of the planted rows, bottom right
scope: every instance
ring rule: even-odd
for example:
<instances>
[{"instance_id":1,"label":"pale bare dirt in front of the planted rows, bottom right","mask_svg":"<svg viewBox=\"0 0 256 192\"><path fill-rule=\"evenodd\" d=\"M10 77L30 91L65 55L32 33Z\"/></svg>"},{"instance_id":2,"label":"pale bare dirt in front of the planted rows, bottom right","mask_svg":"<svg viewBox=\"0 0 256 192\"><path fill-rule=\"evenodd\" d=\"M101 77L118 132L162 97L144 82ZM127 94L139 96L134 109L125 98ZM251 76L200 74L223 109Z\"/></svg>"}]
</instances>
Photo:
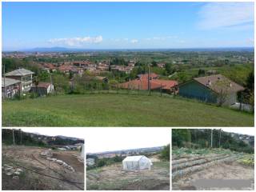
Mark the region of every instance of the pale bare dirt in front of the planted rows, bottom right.
<instances>
[{"instance_id":1,"label":"pale bare dirt in front of the planted rows, bottom right","mask_svg":"<svg viewBox=\"0 0 256 192\"><path fill-rule=\"evenodd\" d=\"M203 181L204 179L206 180ZM238 182L243 181L250 184L237 186ZM210 182L210 185L216 182L217 185L207 187L206 182ZM172 190L254 190L254 169L250 166L242 166L238 162L210 166L208 169L174 180Z\"/></svg>"}]
</instances>

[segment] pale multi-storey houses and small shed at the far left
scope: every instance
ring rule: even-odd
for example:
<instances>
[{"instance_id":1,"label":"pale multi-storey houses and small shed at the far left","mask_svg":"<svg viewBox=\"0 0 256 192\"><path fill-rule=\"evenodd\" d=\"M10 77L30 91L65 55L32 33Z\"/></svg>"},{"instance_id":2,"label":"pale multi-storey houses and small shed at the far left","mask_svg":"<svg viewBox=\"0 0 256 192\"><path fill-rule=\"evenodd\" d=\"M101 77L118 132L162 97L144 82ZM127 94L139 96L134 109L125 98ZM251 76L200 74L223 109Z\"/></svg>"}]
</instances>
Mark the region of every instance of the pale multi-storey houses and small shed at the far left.
<instances>
[{"instance_id":1,"label":"pale multi-storey houses and small shed at the far left","mask_svg":"<svg viewBox=\"0 0 256 192\"><path fill-rule=\"evenodd\" d=\"M54 91L54 85L49 82L38 82L38 85L34 85L33 74L34 72L26 69L6 73L2 78L2 98L14 98L15 94L27 92L46 95Z\"/></svg>"}]
</instances>

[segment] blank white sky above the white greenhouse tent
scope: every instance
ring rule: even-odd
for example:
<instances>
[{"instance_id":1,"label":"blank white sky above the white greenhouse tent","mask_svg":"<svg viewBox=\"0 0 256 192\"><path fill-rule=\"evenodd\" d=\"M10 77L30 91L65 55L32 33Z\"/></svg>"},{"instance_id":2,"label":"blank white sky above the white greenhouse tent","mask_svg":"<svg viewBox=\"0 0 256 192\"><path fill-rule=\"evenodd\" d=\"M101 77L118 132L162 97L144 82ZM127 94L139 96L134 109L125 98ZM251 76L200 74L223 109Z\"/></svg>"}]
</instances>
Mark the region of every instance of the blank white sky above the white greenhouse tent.
<instances>
[{"instance_id":1,"label":"blank white sky above the white greenhouse tent","mask_svg":"<svg viewBox=\"0 0 256 192\"><path fill-rule=\"evenodd\" d=\"M90 129L86 133L86 152L130 150L170 144L169 128L115 127Z\"/></svg>"}]
</instances>

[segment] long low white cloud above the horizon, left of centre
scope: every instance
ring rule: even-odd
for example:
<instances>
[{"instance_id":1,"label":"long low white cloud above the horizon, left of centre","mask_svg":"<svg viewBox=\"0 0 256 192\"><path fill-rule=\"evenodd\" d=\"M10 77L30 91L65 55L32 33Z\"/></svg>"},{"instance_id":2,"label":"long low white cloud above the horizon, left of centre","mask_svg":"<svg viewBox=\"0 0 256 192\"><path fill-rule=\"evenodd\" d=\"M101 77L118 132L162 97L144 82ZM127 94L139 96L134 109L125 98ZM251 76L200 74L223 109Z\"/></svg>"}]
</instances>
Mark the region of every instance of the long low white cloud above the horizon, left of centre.
<instances>
[{"instance_id":1,"label":"long low white cloud above the horizon, left of centre","mask_svg":"<svg viewBox=\"0 0 256 192\"><path fill-rule=\"evenodd\" d=\"M101 35L95 37L84 37L84 38L52 38L49 40L52 44L66 45L66 46L83 46L88 43L99 43L102 42L103 38Z\"/></svg>"}]
</instances>

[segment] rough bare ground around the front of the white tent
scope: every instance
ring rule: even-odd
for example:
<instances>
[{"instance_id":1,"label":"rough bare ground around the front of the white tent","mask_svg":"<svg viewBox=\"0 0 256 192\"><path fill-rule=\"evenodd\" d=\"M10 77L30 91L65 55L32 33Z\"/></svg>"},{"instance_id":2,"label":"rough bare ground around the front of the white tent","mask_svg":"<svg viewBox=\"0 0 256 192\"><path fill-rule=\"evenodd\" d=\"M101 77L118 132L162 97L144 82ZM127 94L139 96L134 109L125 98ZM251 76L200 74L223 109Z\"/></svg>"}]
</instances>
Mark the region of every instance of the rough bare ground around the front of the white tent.
<instances>
[{"instance_id":1,"label":"rough bare ground around the front of the white tent","mask_svg":"<svg viewBox=\"0 0 256 192\"><path fill-rule=\"evenodd\" d=\"M154 162L151 170L124 171L121 163L87 170L86 190L170 190L169 162Z\"/></svg>"}]
</instances>

